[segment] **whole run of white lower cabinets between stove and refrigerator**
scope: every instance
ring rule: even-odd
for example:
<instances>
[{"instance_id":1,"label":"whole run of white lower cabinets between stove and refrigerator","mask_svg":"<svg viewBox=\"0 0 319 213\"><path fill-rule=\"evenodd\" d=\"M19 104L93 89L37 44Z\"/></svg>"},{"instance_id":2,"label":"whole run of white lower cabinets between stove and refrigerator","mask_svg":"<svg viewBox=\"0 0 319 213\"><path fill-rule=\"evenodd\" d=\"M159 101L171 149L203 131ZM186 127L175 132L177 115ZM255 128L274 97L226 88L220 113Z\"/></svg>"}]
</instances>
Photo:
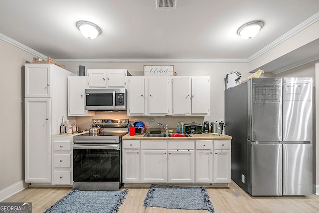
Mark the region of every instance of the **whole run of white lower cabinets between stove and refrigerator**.
<instances>
[{"instance_id":1,"label":"whole run of white lower cabinets between stove and refrigerator","mask_svg":"<svg viewBox=\"0 0 319 213\"><path fill-rule=\"evenodd\" d=\"M230 140L123 140L123 183L230 183Z\"/></svg>"}]
</instances>

